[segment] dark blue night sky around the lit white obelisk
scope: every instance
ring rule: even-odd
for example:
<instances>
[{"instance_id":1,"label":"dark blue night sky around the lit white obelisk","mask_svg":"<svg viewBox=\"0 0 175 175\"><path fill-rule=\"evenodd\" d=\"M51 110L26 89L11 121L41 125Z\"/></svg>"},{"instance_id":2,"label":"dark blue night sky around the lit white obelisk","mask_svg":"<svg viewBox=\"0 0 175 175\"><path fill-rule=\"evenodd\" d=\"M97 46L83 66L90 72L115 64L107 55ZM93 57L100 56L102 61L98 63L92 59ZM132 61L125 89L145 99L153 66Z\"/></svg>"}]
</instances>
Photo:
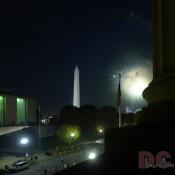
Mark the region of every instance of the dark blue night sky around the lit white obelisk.
<instances>
[{"instance_id":1,"label":"dark blue night sky around the lit white obelisk","mask_svg":"<svg viewBox=\"0 0 175 175\"><path fill-rule=\"evenodd\" d=\"M38 99L44 114L72 104L115 105L114 72L152 59L151 0L23 0L1 4L0 87Z\"/></svg>"}]
</instances>

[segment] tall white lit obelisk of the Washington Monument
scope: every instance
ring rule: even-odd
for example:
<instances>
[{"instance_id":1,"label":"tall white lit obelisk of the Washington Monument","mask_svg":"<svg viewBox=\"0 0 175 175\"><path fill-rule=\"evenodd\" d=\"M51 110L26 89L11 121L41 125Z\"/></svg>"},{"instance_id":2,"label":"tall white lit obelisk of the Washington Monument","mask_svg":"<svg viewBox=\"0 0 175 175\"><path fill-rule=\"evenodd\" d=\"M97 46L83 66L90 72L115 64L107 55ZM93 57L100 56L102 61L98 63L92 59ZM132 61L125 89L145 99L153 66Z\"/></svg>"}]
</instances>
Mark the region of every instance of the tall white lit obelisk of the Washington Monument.
<instances>
[{"instance_id":1,"label":"tall white lit obelisk of the Washington Monument","mask_svg":"<svg viewBox=\"0 0 175 175\"><path fill-rule=\"evenodd\" d=\"M74 94L73 94L73 106L80 107L80 80L78 66L74 70Z\"/></svg>"}]
</instances>

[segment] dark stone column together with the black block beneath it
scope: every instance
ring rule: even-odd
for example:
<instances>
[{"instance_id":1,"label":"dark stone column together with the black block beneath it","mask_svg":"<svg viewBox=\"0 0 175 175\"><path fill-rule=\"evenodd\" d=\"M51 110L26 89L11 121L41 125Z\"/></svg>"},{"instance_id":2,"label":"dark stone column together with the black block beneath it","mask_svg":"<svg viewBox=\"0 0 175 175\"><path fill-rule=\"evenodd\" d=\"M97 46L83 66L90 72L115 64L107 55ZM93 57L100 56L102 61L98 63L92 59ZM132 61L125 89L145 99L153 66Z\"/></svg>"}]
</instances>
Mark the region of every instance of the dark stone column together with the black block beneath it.
<instances>
[{"instance_id":1,"label":"dark stone column together with the black block beneath it","mask_svg":"<svg viewBox=\"0 0 175 175\"><path fill-rule=\"evenodd\" d=\"M174 168L170 167L175 165L172 141L175 136L175 0L152 1L154 75L143 92L148 106L136 114L139 119L137 126L105 131L105 154L110 157L110 169L124 172L127 165L127 172L129 170L132 174L172 174ZM170 167L159 167L162 162L154 160L146 163L145 156L143 159L139 156L142 150L151 153L151 159L166 150L169 157L172 156L168 159ZM138 166L140 162L145 169Z\"/></svg>"}]
</instances>

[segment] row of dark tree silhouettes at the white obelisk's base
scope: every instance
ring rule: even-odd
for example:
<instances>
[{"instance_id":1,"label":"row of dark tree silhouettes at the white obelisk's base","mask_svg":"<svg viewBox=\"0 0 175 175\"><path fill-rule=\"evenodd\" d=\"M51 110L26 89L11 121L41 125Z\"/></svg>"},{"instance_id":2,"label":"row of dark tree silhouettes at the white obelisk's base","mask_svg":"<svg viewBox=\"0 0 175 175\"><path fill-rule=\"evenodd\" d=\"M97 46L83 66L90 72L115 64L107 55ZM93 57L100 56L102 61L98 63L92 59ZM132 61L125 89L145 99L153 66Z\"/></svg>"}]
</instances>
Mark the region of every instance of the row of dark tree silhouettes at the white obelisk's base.
<instances>
[{"instance_id":1,"label":"row of dark tree silhouettes at the white obelisk's base","mask_svg":"<svg viewBox=\"0 0 175 175\"><path fill-rule=\"evenodd\" d=\"M122 124L130 125L133 122L133 114L122 114ZM81 136L84 138L96 138L97 127L111 128L118 126L117 109L112 106L97 108L87 104L80 108L71 105L64 106L60 113L59 126L63 124L77 125L81 128Z\"/></svg>"}]
</instances>

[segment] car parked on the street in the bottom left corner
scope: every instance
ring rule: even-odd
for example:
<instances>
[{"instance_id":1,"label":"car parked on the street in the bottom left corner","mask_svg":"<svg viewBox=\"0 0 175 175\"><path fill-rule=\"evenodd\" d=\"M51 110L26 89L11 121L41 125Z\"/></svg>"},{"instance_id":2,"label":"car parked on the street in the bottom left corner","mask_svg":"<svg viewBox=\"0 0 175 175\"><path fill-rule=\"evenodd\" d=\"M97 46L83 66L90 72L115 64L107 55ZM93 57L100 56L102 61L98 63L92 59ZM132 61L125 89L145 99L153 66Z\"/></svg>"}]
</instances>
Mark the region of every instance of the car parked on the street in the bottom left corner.
<instances>
[{"instance_id":1,"label":"car parked on the street in the bottom left corner","mask_svg":"<svg viewBox=\"0 0 175 175\"><path fill-rule=\"evenodd\" d=\"M29 164L25 160L18 160L12 164L12 166L9 168L10 173L16 173L22 170L26 170L29 168Z\"/></svg>"}]
</instances>

